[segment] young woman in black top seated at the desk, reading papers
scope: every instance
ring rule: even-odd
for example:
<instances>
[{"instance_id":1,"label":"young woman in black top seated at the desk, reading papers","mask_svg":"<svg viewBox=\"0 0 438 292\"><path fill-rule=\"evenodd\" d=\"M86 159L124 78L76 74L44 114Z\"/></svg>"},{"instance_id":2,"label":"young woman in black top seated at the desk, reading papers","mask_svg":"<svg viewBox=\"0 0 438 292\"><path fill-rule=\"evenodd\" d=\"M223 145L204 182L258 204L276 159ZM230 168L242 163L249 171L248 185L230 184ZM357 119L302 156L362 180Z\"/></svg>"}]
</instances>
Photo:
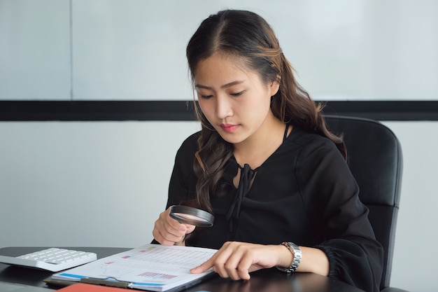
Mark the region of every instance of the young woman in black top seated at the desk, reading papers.
<instances>
[{"instance_id":1,"label":"young woman in black top seated at the desk, reading papers","mask_svg":"<svg viewBox=\"0 0 438 292\"><path fill-rule=\"evenodd\" d=\"M192 272L250 279L278 267L379 291L383 249L358 198L340 137L293 75L267 22L220 11L190 39L187 57L202 130L176 154L160 244L219 249ZM169 207L192 204L211 228L178 223Z\"/></svg>"}]
</instances>

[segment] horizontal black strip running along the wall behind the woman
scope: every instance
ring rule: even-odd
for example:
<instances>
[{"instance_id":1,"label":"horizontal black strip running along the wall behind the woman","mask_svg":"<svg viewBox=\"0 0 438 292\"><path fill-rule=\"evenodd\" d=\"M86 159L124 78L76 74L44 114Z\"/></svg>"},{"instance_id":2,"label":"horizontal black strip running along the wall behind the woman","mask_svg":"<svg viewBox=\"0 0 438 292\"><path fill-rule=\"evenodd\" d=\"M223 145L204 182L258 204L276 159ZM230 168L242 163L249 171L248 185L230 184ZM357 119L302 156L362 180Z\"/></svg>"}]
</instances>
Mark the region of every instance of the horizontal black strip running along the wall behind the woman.
<instances>
[{"instance_id":1,"label":"horizontal black strip running along the wall behind the woman","mask_svg":"<svg viewBox=\"0 0 438 292\"><path fill-rule=\"evenodd\" d=\"M374 120L438 120L438 101L324 102L324 113ZM194 120L191 101L1 101L1 121Z\"/></svg>"}]
</instances>

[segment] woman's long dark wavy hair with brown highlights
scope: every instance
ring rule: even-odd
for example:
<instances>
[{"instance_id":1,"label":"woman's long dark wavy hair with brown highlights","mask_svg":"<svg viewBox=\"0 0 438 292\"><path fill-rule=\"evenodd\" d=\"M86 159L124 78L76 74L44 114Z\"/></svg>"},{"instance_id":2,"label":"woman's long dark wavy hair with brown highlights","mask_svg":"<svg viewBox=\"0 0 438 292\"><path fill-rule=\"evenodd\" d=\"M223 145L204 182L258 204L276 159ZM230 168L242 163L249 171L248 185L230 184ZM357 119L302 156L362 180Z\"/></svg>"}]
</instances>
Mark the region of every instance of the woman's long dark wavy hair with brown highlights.
<instances>
[{"instance_id":1,"label":"woman's long dark wavy hair with brown highlights","mask_svg":"<svg viewBox=\"0 0 438 292\"><path fill-rule=\"evenodd\" d=\"M213 53L222 53L229 57L239 57L265 83L278 81L280 88L271 102L274 116L284 123L299 125L309 132L327 137L346 158L344 141L325 126L321 113L323 105L315 104L297 83L292 66L283 55L273 29L260 15L235 10L210 15L190 39L186 53L192 80L195 80L200 61L211 57ZM198 178L197 202L199 207L211 211L210 195L221 191L218 181L225 172L233 147L214 130L196 102L195 111L202 123L194 162Z\"/></svg>"}]
</instances>

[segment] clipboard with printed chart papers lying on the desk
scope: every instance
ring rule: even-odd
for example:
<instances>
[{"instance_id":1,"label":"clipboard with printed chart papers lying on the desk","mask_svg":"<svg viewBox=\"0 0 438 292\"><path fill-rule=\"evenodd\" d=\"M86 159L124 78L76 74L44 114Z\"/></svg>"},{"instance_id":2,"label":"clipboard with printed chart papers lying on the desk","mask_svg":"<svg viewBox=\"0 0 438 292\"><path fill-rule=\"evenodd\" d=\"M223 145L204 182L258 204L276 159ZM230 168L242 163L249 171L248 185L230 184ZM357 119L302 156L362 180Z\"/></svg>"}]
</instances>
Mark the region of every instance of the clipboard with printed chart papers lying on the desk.
<instances>
[{"instance_id":1,"label":"clipboard with printed chart papers lying on the desk","mask_svg":"<svg viewBox=\"0 0 438 292\"><path fill-rule=\"evenodd\" d=\"M146 244L59 272L52 279L148 291L167 291L180 286L183 289L213 273L210 269L202 274L190 274L190 269L214 253L216 249Z\"/></svg>"}]
</instances>

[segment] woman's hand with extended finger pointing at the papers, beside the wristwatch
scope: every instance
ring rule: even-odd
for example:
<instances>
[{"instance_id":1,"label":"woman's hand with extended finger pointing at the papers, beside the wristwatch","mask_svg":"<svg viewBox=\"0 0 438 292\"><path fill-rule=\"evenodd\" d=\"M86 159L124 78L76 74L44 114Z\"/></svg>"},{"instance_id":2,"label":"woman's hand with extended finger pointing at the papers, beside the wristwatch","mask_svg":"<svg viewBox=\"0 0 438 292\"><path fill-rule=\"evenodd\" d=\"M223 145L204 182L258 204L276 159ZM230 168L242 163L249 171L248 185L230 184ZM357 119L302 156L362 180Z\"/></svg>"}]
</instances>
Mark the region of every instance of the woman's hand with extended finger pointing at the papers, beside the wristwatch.
<instances>
[{"instance_id":1,"label":"woman's hand with extended finger pointing at the papers, beside the wristwatch","mask_svg":"<svg viewBox=\"0 0 438 292\"><path fill-rule=\"evenodd\" d=\"M248 280L250 272L276 265L288 267L290 263L292 253L285 246L225 242L209 260L190 272L198 274L213 267L222 278Z\"/></svg>"}]
</instances>

